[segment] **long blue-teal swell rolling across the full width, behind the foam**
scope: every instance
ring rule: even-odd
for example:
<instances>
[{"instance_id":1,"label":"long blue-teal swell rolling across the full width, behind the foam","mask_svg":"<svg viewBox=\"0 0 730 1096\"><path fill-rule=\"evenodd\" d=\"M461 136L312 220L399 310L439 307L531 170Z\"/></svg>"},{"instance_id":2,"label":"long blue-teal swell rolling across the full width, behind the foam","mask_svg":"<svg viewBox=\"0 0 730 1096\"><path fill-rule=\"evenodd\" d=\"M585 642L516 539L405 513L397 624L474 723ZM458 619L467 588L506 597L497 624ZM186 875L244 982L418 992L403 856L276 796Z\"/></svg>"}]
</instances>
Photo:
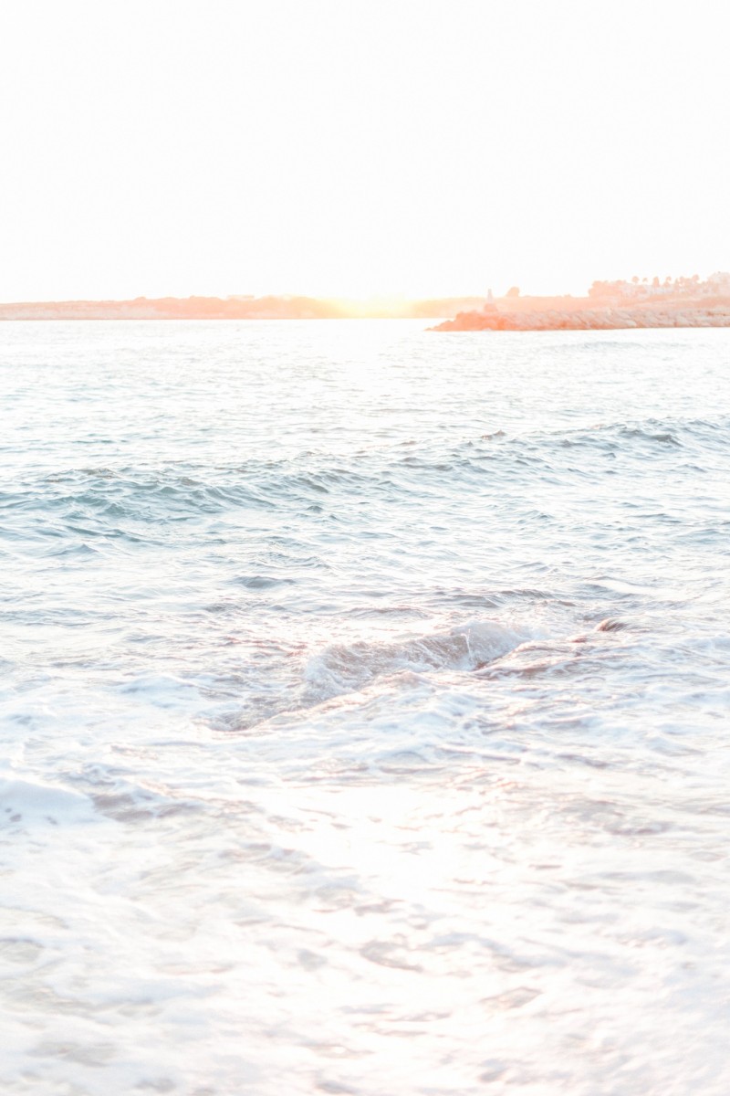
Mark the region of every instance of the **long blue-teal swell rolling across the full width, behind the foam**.
<instances>
[{"instance_id":1,"label":"long blue-teal swell rolling across the full width, behind the foam","mask_svg":"<svg viewBox=\"0 0 730 1096\"><path fill-rule=\"evenodd\" d=\"M399 444L373 446L349 457L322 452L243 465L67 469L30 477L5 491L0 505L5 535L13 537L22 528L32 538L69 537L74 543L100 536L164 539L167 528L201 518L211 523L236 512L311 514L315 520L324 514L341 523L359 520L363 506L374 512L413 501L421 507L441 498L462 505L485 484L506 492L519 491L525 478L555 484L605 475L607 466L591 461L591 453L633 458L641 473L656 472L647 457L677 468L685 461L685 470L694 473L725 447L729 427L727 415L647 418L575 429L500 427L471 437L430 438L405 450ZM380 529L378 536L383 535ZM93 550L89 543L85 550Z\"/></svg>"}]
</instances>

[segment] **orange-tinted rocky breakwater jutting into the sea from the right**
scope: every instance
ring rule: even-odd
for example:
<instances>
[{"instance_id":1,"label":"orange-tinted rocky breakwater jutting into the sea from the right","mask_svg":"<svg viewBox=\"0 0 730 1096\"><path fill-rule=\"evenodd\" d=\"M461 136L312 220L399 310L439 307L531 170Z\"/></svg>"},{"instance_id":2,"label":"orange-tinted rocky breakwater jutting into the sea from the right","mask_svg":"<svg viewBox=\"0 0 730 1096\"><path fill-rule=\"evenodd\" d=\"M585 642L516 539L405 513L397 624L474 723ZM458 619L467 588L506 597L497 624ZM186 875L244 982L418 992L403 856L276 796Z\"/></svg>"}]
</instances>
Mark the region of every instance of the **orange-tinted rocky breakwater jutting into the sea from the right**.
<instances>
[{"instance_id":1,"label":"orange-tinted rocky breakwater jutting into the sea from the right","mask_svg":"<svg viewBox=\"0 0 730 1096\"><path fill-rule=\"evenodd\" d=\"M621 328L730 328L730 300L661 307L521 309L487 305L429 331L607 331Z\"/></svg>"}]
</instances>

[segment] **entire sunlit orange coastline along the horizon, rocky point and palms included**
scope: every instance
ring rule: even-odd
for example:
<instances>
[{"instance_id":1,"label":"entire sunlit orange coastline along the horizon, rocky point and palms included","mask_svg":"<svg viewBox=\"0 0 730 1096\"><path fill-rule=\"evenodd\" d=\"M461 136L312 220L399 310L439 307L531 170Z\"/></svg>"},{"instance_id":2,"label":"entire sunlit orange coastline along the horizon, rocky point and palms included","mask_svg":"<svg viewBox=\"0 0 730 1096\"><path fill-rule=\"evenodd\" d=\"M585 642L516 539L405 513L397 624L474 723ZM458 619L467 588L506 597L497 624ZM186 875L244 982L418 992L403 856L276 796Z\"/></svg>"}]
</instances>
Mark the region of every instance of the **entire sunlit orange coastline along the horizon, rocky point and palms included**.
<instances>
[{"instance_id":1,"label":"entire sunlit orange coastline along the horizon, rocky point and palms included","mask_svg":"<svg viewBox=\"0 0 730 1096\"><path fill-rule=\"evenodd\" d=\"M441 320L430 331L605 331L622 328L728 328L730 274L593 282L588 295L364 300L302 296L160 297L0 304L0 320Z\"/></svg>"}]
</instances>

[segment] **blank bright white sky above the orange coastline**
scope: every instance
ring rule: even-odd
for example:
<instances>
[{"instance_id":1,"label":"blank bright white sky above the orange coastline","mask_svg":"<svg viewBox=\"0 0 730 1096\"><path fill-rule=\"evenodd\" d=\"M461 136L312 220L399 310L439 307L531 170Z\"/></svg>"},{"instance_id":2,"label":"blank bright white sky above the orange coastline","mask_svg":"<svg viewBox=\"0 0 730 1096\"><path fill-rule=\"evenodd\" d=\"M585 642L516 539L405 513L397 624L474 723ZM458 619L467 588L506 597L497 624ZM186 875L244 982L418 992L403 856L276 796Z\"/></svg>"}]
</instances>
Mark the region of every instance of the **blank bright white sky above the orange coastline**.
<instances>
[{"instance_id":1,"label":"blank bright white sky above the orange coastline","mask_svg":"<svg viewBox=\"0 0 730 1096\"><path fill-rule=\"evenodd\" d=\"M0 300L730 269L719 0L2 0Z\"/></svg>"}]
</instances>

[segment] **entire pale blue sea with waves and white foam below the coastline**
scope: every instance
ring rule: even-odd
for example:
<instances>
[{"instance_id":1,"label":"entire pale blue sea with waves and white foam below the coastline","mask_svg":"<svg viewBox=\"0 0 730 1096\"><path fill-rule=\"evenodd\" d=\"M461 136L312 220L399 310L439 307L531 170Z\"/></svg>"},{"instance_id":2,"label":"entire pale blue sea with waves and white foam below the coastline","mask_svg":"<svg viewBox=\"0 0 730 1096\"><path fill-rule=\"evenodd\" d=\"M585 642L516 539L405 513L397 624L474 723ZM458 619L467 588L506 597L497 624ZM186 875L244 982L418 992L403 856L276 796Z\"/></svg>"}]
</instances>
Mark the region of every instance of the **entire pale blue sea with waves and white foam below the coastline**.
<instances>
[{"instance_id":1,"label":"entire pale blue sea with waves and white foam below the coastline","mask_svg":"<svg viewBox=\"0 0 730 1096\"><path fill-rule=\"evenodd\" d=\"M730 1092L730 332L0 328L0 1091Z\"/></svg>"}]
</instances>

